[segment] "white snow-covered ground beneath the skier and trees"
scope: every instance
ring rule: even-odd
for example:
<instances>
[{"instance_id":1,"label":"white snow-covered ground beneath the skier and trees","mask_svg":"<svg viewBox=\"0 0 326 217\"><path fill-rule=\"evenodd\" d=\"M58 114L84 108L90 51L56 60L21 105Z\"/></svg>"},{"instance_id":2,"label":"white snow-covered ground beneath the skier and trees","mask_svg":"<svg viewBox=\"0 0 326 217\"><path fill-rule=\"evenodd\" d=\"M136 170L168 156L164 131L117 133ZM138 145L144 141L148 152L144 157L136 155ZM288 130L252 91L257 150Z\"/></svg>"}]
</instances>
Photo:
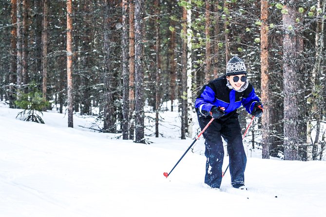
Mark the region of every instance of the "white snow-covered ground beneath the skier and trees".
<instances>
[{"instance_id":1,"label":"white snow-covered ground beneath the skier and trees","mask_svg":"<svg viewBox=\"0 0 326 217\"><path fill-rule=\"evenodd\" d=\"M163 176L192 143L179 139L176 113L162 114L165 138L143 145L92 132L91 118L75 115L68 128L64 114L43 112L42 125L16 119L19 111L0 105L0 217L326 215L325 161L249 153L249 190L233 189L228 172L219 192L203 184L203 139Z\"/></svg>"}]
</instances>

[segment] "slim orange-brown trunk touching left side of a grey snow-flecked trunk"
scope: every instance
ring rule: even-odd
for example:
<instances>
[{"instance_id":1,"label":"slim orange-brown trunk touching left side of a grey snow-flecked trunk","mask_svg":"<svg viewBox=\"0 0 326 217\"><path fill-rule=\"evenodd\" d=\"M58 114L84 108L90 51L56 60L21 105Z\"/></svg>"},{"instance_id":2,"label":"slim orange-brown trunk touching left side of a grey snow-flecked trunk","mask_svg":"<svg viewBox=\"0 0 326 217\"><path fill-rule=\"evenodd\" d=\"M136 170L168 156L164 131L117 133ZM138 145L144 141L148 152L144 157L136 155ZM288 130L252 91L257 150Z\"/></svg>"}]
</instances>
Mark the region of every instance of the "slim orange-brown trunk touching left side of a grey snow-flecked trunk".
<instances>
[{"instance_id":1,"label":"slim orange-brown trunk touching left side of a grey snow-flecked trunk","mask_svg":"<svg viewBox=\"0 0 326 217\"><path fill-rule=\"evenodd\" d=\"M134 140L134 0L129 2L129 139Z\"/></svg>"}]
</instances>

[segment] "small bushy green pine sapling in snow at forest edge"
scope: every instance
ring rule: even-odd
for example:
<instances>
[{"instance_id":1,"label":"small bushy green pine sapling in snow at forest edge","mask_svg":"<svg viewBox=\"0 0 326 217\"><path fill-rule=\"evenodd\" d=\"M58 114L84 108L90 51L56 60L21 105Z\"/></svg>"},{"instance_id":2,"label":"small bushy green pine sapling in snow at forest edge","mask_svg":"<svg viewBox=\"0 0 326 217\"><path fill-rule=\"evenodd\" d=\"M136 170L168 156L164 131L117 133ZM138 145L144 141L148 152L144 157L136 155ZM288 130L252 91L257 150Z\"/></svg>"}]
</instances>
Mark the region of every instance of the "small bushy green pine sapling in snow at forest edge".
<instances>
[{"instance_id":1,"label":"small bushy green pine sapling in snow at forest edge","mask_svg":"<svg viewBox=\"0 0 326 217\"><path fill-rule=\"evenodd\" d=\"M49 107L50 102L43 98L42 92L38 90L36 82L31 82L28 85L28 90L28 93L24 93L21 90L18 91L15 104L24 110L19 112L16 118L20 116L24 121L44 124L43 119L37 114L37 112L43 115L43 108Z\"/></svg>"}]
</instances>

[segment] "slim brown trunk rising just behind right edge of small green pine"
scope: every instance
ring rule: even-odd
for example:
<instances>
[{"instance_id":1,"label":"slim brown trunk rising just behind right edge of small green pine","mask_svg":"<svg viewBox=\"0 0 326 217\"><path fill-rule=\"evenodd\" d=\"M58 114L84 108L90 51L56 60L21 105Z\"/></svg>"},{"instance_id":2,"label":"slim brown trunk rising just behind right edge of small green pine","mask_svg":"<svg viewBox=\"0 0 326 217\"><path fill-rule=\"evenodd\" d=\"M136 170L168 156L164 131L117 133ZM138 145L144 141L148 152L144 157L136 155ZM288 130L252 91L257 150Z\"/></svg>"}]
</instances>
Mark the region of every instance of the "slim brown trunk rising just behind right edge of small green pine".
<instances>
[{"instance_id":1,"label":"slim brown trunk rising just behind right edge of small green pine","mask_svg":"<svg viewBox=\"0 0 326 217\"><path fill-rule=\"evenodd\" d=\"M48 63L48 0L43 0L43 31L42 31L42 75L43 75L43 98L46 99L47 89L47 63ZM43 108L46 111L46 108Z\"/></svg>"}]
</instances>

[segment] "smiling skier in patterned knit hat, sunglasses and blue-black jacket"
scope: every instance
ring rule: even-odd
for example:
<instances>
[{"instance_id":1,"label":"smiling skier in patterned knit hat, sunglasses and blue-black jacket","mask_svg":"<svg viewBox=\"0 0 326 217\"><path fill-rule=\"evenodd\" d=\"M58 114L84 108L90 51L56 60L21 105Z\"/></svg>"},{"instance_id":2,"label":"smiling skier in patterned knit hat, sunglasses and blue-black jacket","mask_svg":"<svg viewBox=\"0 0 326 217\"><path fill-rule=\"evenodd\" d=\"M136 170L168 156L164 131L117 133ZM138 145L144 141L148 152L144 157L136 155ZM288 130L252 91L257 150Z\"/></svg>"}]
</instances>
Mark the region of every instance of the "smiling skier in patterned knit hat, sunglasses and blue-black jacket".
<instances>
[{"instance_id":1,"label":"smiling skier in patterned knit hat, sunglasses and blue-black jacket","mask_svg":"<svg viewBox=\"0 0 326 217\"><path fill-rule=\"evenodd\" d=\"M222 181L223 137L228 144L231 184L234 188L246 189L244 172L247 157L236 109L242 104L255 117L260 117L263 113L262 104L246 74L243 60L237 56L231 58L226 74L205 85L195 101L201 129L214 118L203 134L207 157L205 183L211 188L219 189Z\"/></svg>"}]
</instances>

